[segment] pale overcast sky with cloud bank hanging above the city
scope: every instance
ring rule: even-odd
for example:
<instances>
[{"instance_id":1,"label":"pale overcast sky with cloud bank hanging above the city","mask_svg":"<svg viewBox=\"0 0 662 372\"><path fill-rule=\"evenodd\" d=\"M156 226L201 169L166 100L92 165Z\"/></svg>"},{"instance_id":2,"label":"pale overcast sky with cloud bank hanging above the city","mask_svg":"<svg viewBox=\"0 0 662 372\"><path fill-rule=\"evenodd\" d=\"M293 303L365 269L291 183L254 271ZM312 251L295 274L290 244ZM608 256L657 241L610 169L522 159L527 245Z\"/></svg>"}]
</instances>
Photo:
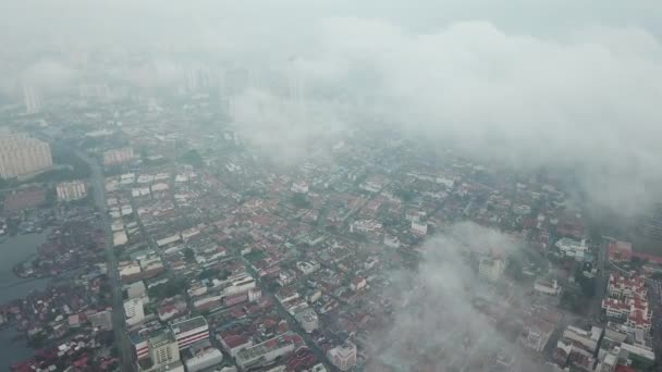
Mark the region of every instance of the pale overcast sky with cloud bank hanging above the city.
<instances>
[{"instance_id":1,"label":"pale overcast sky with cloud bank hanging above the city","mask_svg":"<svg viewBox=\"0 0 662 372\"><path fill-rule=\"evenodd\" d=\"M233 97L233 120L249 145L284 162L370 121L478 160L572 170L591 202L624 214L662 189L662 4L654 0L0 7L3 54L144 50L157 66L145 85L181 78L172 55L203 53L249 69L258 84ZM21 79L58 88L89 74L39 55L0 63L8 71L0 87ZM140 75L124 65L98 70ZM259 84L269 74L301 79L303 113L286 89Z\"/></svg>"}]
</instances>

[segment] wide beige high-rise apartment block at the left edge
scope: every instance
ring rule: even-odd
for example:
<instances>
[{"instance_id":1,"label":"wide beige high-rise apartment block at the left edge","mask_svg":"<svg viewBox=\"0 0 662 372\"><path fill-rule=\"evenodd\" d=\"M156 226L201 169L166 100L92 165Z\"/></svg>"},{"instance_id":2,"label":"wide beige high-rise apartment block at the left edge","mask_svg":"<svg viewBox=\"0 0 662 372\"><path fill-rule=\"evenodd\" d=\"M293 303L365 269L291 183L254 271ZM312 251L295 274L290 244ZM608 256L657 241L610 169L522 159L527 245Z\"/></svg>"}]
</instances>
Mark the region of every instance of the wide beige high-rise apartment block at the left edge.
<instances>
[{"instance_id":1,"label":"wide beige high-rise apartment block at the left edge","mask_svg":"<svg viewBox=\"0 0 662 372\"><path fill-rule=\"evenodd\" d=\"M0 177L35 174L52 166L50 145L27 134L0 135Z\"/></svg>"}]
</instances>

